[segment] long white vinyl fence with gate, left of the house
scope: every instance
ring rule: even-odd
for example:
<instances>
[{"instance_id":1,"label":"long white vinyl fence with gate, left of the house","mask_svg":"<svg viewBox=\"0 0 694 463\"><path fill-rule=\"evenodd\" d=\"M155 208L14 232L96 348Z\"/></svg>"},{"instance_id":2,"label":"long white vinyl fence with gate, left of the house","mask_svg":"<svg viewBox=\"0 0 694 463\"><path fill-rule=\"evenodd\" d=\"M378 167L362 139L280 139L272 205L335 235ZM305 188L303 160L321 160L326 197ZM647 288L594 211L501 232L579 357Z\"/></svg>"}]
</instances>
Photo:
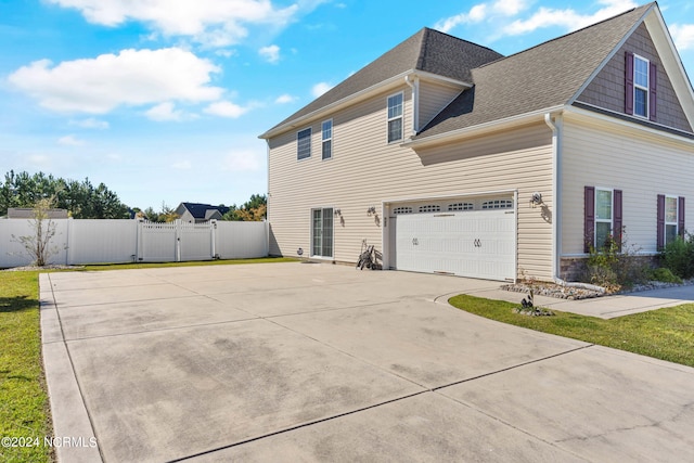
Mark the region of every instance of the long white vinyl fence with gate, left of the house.
<instances>
[{"instance_id":1,"label":"long white vinyl fence with gate, left of the house","mask_svg":"<svg viewBox=\"0 0 694 463\"><path fill-rule=\"evenodd\" d=\"M48 259L50 263L175 262L268 255L268 222L51 221L55 236L50 247L55 254ZM35 234L33 219L0 220L0 268L29 265L31 257L17 239Z\"/></svg>"}]
</instances>

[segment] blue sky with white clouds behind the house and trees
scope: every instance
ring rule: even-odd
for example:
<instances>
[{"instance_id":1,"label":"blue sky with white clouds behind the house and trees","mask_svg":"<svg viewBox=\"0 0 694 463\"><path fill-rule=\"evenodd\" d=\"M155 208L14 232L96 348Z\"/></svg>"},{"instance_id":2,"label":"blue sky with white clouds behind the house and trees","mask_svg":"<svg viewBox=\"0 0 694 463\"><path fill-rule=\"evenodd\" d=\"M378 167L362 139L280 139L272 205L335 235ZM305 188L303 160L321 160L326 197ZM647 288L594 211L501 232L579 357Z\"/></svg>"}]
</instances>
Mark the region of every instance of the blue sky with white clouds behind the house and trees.
<instances>
[{"instance_id":1,"label":"blue sky with white clouds behind the house and trees","mask_svg":"<svg viewBox=\"0 0 694 463\"><path fill-rule=\"evenodd\" d=\"M0 175L89 177L131 207L242 204L267 191L258 134L420 28L512 54L639 4L0 0ZM692 77L694 4L659 5Z\"/></svg>"}]
</instances>

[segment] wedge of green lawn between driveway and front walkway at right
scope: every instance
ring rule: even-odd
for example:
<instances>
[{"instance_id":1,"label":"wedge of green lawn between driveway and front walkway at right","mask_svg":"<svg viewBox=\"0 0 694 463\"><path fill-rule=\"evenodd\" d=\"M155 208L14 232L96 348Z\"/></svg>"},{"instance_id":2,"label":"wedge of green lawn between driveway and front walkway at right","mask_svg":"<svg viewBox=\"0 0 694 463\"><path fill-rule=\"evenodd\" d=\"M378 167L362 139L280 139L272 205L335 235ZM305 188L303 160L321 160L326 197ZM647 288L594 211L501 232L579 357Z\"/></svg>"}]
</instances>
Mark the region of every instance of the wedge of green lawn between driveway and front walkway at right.
<instances>
[{"instance_id":1,"label":"wedge of green lawn between driveway and front walkway at right","mask_svg":"<svg viewBox=\"0 0 694 463\"><path fill-rule=\"evenodd\" d=\"M517 304L466 295L449 303L491 320L694 366L694 304L603 320L556 310L529 317L513 312Z\"/></svg>"}]
</instances>

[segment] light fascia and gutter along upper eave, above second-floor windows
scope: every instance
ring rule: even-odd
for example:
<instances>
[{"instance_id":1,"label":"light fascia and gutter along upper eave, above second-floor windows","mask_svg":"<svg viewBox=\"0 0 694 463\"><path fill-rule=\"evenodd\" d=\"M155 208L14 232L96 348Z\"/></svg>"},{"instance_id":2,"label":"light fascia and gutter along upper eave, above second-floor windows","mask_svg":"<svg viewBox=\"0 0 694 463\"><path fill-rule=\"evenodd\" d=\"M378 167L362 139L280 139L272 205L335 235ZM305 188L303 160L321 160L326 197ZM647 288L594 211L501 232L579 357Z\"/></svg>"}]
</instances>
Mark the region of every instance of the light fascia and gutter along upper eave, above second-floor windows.
<instances>
[{"instance_id":1,"label":"light fascia and gutter along upper eave, above second-floor windows","mask_svg":"<svg viewBox=\"0 0 694 463\"><path fill-rule=\"evenodd\" d=\"M400 73L397 76L393 76L389 79L383 80L378 83L376 83L375 86L371 86L369 88L365 88L361 91L358 91L357 93L352 93L349 97L345 97L342 100L338 100L334 103L331 103L326 106L323 106L319 110L313 111L312 113L306 114L301 117L297 117L296 119L292 119L288 123L284 124L283 126L280 126L275 129L272 130L268 130L267 132L262 133L261 136L259 136L259 139L270 139L272 137L279 136L281 133L286 132L287 130L292 130L292 129L296 129L298 127L303 127L306 126L308 124L309 120L314 120L314 119L319 119L321 117L324 117L325 114L327 113L334 113L335 111L338 111L343 107L352 105L355 103L358 103L360 101L363 101L370 97L373 97L374 94L384 92L390 88L395 88L398 87L400 85L404 83L404 78L408 76L417 76L420 78L426 79L426 80L437 80L440 82L445 82L445 83L449 83L449 85L454 85L455 87L460 87L461 90L464 88L471 88L472 83L470 82L463 82L461 80L455 80L455 79L451 79L448 77L444 77L444 76L439 76L437 74L432 74L432 73L423 73L421 70L416 70L416 69L409 69L406 70L404 73Z\"/></svg>"}]
</instances>

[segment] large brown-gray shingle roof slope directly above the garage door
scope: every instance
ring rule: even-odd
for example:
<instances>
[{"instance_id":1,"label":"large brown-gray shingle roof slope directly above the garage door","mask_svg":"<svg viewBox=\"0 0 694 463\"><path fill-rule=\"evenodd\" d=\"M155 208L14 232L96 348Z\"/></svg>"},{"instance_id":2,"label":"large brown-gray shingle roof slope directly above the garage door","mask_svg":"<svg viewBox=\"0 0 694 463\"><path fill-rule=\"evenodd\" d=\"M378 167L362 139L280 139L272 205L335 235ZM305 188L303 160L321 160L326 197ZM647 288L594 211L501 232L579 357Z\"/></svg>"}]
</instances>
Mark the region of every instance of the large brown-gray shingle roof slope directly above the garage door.
<instances>
[{"instance_id":1,"label":"large brown-gray shingle roof slope directly above the garage door","mask_svg":"<svg viewBox=\"0 0 694 463\"><path fill-rule=\"evenodd\" d=\"M415 140L567 104L655 3L472 70L463 91Z\"/></svg>"}]
</instances>

